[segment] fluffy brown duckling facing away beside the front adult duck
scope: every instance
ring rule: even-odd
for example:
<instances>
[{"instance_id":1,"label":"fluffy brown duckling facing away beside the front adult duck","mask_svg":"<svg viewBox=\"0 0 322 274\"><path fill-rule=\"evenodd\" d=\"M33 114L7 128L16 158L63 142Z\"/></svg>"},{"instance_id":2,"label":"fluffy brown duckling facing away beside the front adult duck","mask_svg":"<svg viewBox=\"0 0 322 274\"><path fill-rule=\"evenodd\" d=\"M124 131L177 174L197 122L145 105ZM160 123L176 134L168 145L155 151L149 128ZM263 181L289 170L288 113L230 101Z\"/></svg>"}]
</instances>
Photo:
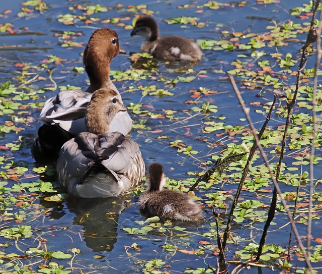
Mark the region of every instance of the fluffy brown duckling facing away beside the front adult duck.
<instances>
[{"instance_id":1,"label":"fluffy brown duckling facing away beside the front adult duck","mask_svg":"<svg viewBox=\"0 0 322 274\"><path fill-rule=\"evenodd\" d=\"M148 190L139 197L139 208L148 216L173 219L185 222L200 222L202 210L187 194L165 189L166 175L163 166L152 163L146 177Z\"/></svg>"}]
</instances>

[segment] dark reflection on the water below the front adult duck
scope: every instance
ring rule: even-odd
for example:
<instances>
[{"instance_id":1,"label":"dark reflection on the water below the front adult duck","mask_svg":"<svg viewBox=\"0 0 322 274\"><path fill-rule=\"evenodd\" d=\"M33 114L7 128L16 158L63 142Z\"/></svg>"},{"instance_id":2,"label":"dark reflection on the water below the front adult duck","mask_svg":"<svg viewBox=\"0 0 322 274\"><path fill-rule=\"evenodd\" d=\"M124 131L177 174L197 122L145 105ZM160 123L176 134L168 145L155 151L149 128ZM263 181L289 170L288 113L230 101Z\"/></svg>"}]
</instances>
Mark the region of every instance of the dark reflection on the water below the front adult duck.
<instances>
[{"instance_id":1,"label":"dark reflection on the water below the front adult duck","mask_svg":"<svg viewBox=\"0 0 322 274\"><path fill-rule=\"evenodd\" d=\"M53 208L50 217L59 220L66 210L75 214L72 224L84 228L82 236L87 247L95 252L109 252L117 241L118 219L124 208L125 200L121 197L82 199L68 196Z\"/></svg>"}]
</instances>

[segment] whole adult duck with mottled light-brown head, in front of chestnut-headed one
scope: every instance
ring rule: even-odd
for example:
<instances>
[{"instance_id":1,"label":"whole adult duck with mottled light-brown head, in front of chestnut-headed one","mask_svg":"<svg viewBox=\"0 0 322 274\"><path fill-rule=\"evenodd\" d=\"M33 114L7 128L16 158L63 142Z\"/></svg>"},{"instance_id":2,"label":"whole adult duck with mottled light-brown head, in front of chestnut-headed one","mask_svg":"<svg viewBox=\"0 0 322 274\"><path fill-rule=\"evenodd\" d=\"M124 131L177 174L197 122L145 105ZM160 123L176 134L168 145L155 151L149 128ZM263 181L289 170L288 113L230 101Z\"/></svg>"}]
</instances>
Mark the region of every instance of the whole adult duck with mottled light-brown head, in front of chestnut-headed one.
<instances>
[{"instance_id":1,"label":"whole adult duck with mottled light-brown head, in front of chestnut-headed one","mask_svg":"<svg viewBox=\"0 0 322 274\"><path fill-rule=\"evenodd\" d=\"M136 186L145 173L139 146L120 132L111 132L115 115L125 112L120 94L96 90L87 106L86 127L60 149L58 182L81 198L116 197Z\"/></svg>"}]
</instances>

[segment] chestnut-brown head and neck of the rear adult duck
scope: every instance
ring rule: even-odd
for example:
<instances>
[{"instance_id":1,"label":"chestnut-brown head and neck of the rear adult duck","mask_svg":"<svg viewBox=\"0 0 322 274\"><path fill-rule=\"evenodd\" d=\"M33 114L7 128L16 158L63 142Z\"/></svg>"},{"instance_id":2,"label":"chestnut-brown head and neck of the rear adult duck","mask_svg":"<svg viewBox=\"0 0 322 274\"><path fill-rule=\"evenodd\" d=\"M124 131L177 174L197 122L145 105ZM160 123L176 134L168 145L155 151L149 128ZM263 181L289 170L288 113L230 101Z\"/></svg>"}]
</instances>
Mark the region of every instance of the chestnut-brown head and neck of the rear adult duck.
<instances>
[{"instance_id":1,"label":"chestnut-brown head and neck of the rear adult duck","mask_svg":"<svg viewBox=\"0 0 322 274\"><path fill-rule=\"evenodd\" d=\"M83 63L94 90L110 80L110 63L118 53L126 53L120 46L117 33L108 28L94 31L84 51Z\"/></svg>"}]
</instances>

